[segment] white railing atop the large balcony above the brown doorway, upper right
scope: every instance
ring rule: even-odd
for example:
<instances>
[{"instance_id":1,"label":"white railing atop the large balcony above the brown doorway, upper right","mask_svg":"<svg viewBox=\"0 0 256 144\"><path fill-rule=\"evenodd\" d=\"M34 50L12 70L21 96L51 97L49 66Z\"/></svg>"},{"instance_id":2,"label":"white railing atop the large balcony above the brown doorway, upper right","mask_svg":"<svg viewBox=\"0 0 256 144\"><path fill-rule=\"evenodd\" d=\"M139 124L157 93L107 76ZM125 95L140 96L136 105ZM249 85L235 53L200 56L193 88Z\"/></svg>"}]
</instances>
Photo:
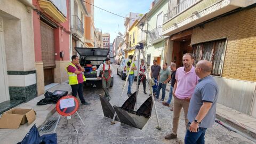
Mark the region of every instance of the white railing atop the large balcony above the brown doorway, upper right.
<instances>
[{"instance_id":1,"label":"white railing atop the large balcony above the brown doorway, upper right","mask_svg":"<svg viewBox=\"0 0 256 144\"><path fill-rule=\"evenodd\" d=\"M164 14L164 22L170 20L175 15L185 11L189 6L201 0L183 0L178 5L169 10L166 14Z\"/></svg>"}]
</instances>

